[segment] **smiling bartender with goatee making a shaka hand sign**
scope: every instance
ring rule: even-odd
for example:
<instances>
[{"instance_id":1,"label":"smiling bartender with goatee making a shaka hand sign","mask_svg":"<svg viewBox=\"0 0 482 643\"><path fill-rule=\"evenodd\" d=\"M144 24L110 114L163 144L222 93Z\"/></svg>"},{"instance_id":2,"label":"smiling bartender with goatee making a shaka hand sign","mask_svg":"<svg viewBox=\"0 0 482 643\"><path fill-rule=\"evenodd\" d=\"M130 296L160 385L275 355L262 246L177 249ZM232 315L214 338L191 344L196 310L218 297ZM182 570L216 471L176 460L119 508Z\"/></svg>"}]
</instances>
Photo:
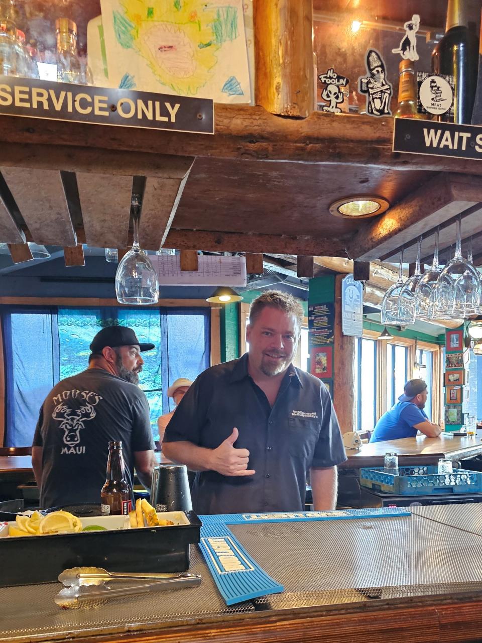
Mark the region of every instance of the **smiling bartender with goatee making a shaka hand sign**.
<instances>
[{"instance_id":1,"label":"smiling bartender with goatee making a shaka hand sign","mask_svg":"<svg viewBox=\"0 0 482 643\"><path fill-rule=\"evenodd\" d=\"M260 295L249 352L201 373L177 407L163 453L197 471L197 513L303 511L308 471L314 508L335 508L346 455L326 387L291 363L302 319L289 294Z\"/></svg>"}]
</instances>

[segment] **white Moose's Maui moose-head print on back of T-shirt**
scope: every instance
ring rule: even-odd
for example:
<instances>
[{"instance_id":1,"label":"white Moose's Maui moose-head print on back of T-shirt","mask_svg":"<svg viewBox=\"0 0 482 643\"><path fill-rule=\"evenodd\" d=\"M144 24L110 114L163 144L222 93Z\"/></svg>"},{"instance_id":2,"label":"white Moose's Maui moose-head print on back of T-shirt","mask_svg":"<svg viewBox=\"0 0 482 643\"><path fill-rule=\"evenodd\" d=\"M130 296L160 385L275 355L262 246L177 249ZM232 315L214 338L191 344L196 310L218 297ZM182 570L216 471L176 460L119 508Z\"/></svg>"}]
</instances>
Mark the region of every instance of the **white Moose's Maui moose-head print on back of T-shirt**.
<instances>
[{"instance_id":1,"label":"white Moose's Maui moose-head print on back of T-shirt","mask_svg":"<svg viewBox=\"0 0 482 643\"><path fill-rule=\"evenodd\" d=\"M66 400L70 399L78 399L82 406L72 408L70 404L66 404ZM102 397L96 393L79 390L64 391L54 397L54 403L59 403L53 410L52 419L60 422L59 428L64 431L63 442L66 445L60 453L85 453L85 446L80 446L80 430L85 428L84 422L94 419L94 406L100 400ZM74 403L72 406L77 404Z\"/></svg>"}]
</instances>

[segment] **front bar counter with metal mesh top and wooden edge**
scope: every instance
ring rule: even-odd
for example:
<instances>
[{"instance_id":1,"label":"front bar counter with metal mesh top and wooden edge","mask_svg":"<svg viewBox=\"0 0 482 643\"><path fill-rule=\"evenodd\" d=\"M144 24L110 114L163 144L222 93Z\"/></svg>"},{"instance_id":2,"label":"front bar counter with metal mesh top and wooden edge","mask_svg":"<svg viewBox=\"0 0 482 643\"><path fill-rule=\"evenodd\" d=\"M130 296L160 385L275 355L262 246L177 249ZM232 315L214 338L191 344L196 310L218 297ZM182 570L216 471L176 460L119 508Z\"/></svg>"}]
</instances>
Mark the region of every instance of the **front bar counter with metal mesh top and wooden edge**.
<instances>
[{"instance_id":1,"label":"front bar counter with metal mesh top and wooden edge","mask_svg":"<svg viewBox=\"0 0 482 643\"><path fill-rule=\"evenodd\" d=\"M78 610L54 604L60 583L0 588L0 643L480 640L480 525L480 505L233 525L235 538L284 592L228 608L193 546L190 570L202 574L196 588Z\"/></svg>"}]
</instances>

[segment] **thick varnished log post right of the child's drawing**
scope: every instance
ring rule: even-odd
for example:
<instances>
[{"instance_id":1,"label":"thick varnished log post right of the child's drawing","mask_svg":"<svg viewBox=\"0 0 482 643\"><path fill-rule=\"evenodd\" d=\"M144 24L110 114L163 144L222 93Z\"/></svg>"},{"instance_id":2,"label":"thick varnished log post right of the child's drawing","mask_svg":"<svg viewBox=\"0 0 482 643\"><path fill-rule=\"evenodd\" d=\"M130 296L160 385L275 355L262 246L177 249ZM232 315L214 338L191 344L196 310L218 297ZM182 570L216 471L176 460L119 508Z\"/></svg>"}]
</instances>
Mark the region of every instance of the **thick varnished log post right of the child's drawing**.
<instances>
[{"instance_id":1,"label":"thick varnished log post right of the child's drawing","mask_svg":"<svg viewBox=\"0 0 482 643\"><path fill-rule=\"evenodd\" d=\"M253 0L254 100L279 116L314 109L312 0Z\"/></svg>"}]
</instances>

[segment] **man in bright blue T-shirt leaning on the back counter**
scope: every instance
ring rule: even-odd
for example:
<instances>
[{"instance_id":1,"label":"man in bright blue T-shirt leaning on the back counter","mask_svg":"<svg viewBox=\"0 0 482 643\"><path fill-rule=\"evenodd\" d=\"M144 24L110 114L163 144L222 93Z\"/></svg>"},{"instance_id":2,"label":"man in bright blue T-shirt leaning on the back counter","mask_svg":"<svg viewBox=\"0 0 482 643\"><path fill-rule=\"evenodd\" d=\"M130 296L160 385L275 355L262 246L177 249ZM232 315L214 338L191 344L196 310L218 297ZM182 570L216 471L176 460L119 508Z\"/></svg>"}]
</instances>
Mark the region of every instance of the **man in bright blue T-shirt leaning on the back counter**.
<instances>
[{"instance_id":1,"label":"man in bright blue T-shirt leaning on the back counter","mask_svg":"<svg viewBox=\"0 0 482 643\"><path fill-rule=\"evenodd\" d=\"M436 438L442 429L433 424L424 411L427 402L427 385L423 379L410 379L404 386L397 404L380 417L371 434L370 442L413 438L421 431L429 438Z\"/></svg>"}]
</instances>

